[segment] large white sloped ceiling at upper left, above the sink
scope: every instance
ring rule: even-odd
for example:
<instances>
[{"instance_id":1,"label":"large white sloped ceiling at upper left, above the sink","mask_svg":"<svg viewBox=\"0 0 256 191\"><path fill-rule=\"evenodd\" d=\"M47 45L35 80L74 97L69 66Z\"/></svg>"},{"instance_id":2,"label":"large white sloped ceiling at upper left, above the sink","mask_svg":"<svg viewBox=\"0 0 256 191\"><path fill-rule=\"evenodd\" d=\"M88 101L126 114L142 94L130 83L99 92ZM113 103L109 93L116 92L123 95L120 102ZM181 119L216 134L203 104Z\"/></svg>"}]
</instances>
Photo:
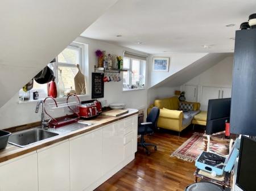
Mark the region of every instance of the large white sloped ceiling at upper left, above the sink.
<instances>
[{"instance_id":1,"label":"large white sloped ceiling at upper left, above the sink","mask_svg":"<svg viewBox=\"0 0 256 191\"><path fill-rule=\"evenodd\" d=\"M117 0L1 0L0 107Z\"/></svg>"}]
</instances>

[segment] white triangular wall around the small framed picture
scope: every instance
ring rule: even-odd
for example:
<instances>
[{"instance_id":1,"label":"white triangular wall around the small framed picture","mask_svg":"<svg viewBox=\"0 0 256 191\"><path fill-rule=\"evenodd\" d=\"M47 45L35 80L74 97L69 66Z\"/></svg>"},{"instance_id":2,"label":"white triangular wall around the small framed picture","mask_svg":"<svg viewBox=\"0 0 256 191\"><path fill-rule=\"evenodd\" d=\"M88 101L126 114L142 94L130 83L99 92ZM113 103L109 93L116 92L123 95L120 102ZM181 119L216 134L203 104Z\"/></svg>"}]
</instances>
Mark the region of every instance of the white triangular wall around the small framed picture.
<instances>
[{"instance_id":1,"label":"white triangular wall around the small framed picture","mask_svg":"<svg viewBox=\"0 0 256 191\"><path fill-rule=\"evenodd\" d=\"M191 65L191 63L199 60L200 58L207 55L206 53L165 53L165 54L152 54L148 58L148 79L150 87L155 86L162 80L170 77L172 74L177 73L184 67ZM170 65L168 72L152 71L153 57L170 57Z\"/></svg>"}]
</instances>

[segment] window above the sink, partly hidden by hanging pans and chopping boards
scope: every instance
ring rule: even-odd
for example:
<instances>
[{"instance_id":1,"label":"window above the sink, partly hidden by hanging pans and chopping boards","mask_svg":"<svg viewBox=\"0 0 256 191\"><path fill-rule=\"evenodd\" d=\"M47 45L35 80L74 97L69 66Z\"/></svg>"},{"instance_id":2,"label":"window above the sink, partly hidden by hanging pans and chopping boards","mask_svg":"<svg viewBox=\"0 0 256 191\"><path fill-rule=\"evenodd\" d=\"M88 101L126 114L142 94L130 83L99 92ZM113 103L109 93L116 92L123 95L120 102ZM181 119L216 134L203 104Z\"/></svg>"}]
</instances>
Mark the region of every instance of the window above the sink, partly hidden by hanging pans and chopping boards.
<instances>
[{"instance_id":1,"label":"window above the sink, partly hidden by hanging pans and chopping boards","mask_svg":"<svg viewBox=\"0 0 256 191\"><path fill-rule=\"evenodd\" d=\"M55 82L57 85L57 82L60 77L60 71L61 71L61 77L63 79L64 88L65 91L71 90L71 87L73 90L75 90L75 82L74 77L78 72L77 64L80 65L83 68L83 59L84 56L84 46L72 43L71 45L67 46L57 57L56 62L49 63L48 66L53 70L55 75ZM32 99L32 92L38 91L39 92L39 99L43 99L44 97L47 97L47 84L39 84L36 83L34 80L33 88L30 91L30 99ZM24 94L23 90L19 91L19 96L26 96L29 97L28 94Z\"/></svg>"}]
</instances>

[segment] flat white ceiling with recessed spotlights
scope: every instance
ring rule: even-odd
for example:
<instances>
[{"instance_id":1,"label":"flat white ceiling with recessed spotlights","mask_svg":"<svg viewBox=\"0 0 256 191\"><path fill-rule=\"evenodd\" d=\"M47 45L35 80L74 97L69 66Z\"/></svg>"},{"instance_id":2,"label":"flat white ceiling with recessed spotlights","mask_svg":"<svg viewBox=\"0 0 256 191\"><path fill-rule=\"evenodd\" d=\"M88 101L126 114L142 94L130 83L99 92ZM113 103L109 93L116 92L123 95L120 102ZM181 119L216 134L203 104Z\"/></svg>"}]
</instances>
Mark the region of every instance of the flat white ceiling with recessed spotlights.
<instances>
[{"instance_id":1,"label":"flat white ceiling with recessed spotlights","mask_svg":"<svg viewBox=\"0 0 256 191\"><path fill-rule=\"evenodd\" d=\"M255 7L255 0L119 0L82 36L150 54L234 52L235 31Z\"/></svg>"}]
</instances>

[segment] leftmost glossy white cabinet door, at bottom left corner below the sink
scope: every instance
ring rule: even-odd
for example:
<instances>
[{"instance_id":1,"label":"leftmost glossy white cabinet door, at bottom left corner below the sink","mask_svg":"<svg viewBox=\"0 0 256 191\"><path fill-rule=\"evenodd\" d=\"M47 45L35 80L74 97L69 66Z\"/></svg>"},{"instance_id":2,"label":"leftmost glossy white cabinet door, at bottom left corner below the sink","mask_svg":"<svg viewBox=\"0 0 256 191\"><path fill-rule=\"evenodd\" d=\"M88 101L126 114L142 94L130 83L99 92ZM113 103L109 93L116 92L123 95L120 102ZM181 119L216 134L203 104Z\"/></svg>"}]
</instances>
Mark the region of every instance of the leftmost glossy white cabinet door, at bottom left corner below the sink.
<instances>
[{"instance_id":1,"label":"leftmost glossy white cabinet door, at bottom left corner below the sink","mask_svg":"<svg viewBox=\"0 0 256 191\"><path fill-rule=\"evenodd\" d=\"M38 190L38 159L36 152L0 163L0 190Z\"/></svg>"}]
</instances>

